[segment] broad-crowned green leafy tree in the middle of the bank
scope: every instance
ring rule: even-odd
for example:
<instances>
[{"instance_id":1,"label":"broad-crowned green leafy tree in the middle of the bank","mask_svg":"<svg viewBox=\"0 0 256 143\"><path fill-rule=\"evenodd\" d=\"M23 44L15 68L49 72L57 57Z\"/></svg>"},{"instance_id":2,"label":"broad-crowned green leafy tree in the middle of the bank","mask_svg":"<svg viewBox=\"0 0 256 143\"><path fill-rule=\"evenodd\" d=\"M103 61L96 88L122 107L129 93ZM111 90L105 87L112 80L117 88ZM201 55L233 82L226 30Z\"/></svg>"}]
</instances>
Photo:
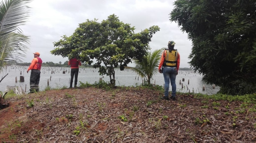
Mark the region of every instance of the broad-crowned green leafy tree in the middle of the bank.
<instances>
[{"instance_id":1,"label":"broad-crowned green leafy tree in the middle of the bank","mask_svg":"<svg viewBox=\"0 0 256 143\"><path fill-rule=\"evenodd\" d=\"M115 85L115 70L120 66L123 70L132 58L141 60L150 49L148 45L153 34L159 31L158 26L151 26L134 33L134 26L124 24L116 15L108 16L101 23L87 20L79 24L73 35L64 35L61 40L54 42L57 47L51 54L63 57L77 56L89 65L96 59L93 68L99 68L101 75L110 77L110 83Z\"/></svg>"}]
</instances>

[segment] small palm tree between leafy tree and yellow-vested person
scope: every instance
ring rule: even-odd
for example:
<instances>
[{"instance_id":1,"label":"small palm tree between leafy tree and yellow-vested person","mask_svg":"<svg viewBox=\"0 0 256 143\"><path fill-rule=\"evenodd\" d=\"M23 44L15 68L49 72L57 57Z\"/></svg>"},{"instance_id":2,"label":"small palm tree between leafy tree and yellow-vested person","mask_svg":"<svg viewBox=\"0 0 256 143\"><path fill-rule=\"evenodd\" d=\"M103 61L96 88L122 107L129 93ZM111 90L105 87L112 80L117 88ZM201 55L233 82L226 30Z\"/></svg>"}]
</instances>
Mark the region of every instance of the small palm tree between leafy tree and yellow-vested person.
<instances>
[{"instance_id":1,"label":"small palm tree between leafy tree and yellow-vested person","mask_svg":"<svg viewBox=\"0 0 256 143\"><path fill-rule=\"evenodd\" d=\"M141 78L146 78L146 81L149 85L153 75L157 74L158 72L159 61L161 59L161 54L163 53L164 49L165 48L155 50L152 53L148 52L145 56L143 56L141 61L133 59L135 67L127 66L125 68L133 70Z\"/></svg>"}]
</instances>

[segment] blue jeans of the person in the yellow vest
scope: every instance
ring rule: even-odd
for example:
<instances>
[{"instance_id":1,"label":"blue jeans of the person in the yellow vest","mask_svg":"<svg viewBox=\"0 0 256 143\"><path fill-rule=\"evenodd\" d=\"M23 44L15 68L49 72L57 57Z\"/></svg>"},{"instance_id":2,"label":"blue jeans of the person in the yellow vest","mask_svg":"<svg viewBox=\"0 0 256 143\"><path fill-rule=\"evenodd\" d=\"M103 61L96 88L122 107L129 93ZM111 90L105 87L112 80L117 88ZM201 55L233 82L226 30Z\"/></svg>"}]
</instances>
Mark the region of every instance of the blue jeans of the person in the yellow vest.
<instances>
[{"instance_id":1,"label":"blue jeans of the person in the yellow vest","mask_svg":"<svg viewBox=\"0 0 256 143\"><path fill-rule=\"evenodd\" d=\"M177 68L176 67L164 67L163 75L164 75L164 96L168 97L169 92L169 84L171 81L172 85L172 96L176 96L176 75L177 75Z\"/></svg>"}]
</instances>

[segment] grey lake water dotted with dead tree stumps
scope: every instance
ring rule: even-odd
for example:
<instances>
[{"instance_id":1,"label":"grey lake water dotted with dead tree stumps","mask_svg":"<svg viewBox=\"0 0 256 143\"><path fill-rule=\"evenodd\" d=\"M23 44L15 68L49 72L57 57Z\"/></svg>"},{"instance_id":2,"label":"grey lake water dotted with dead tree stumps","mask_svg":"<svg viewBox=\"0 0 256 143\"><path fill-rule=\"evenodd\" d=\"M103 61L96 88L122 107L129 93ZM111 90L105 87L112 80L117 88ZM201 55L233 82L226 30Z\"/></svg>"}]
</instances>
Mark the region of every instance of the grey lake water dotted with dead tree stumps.
<instances>
[{"instance_id":1,"label":"grey lake water dotted with dead tree stumps","mask_svg":"<svg viewBox=\"0 0 256 143\"><path fill-rule=\"evenodd\" d=\"M6 66L3 72L1 72L1 77L3 78L6 74L8 74L0 83L0 91L4 92L6 90L6 86L20 86L28 93L29 90L29 78L30 73L27 73L28 66ZM65 74L63 74L65 71ZM47 87L47 80L49 79L49 86L51 88L62 88L63 86L69 87L70 80L70 68L69 67L42 67L41 69L41 78L39 83L40 90L44 90ZM20 74L21 72L21 74ZM19 82L20 76L24 76L24 82ZM18 82L15 82L15 77L17 77ZM51 77L51 80L50 80ZM110 81L110 78L106 75L99 75L98 69L94 68L79 68L78 74L78 86L79 81L82 83L90 83L93 84L98 82L99 79L102 78L105 82ZM184 78L184 82L182 79ZM203 94L215 94L219 91L219 87L212 88L212 85L207 85L204 81L202 81L202 75L198 73L194 73L193 71L179 71L179 74L176 77L176 86L177 91L179 92L195 92L195 93L203 93ZM134 73L132 70L125 69L124 71L120 71L120 69L115 69L115 79L116 86L136 86L142 83L142 79L138 79L138 75ZM182 85L179 84L181 80ZM188 84L189 80L189 84ZM74 82L73 82L74 83ZM164 77L163 74L158 73L154 75L151 83L155 83L157 85L164 85ZM74 86L74 85L73 85ZM203 90L203 86L205 90ZM170 90L172 90L170 85Z\"/></svg>"}]
</instances>

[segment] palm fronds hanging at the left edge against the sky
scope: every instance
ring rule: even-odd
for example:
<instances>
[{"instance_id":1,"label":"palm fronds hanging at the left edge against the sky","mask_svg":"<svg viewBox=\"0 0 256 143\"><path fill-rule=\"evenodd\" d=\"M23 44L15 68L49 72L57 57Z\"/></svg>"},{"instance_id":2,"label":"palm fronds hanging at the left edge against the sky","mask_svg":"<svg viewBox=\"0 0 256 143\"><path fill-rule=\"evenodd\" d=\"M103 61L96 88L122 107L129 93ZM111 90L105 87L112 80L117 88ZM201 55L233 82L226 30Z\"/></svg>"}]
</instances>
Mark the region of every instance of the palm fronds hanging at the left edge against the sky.
<instances>
[{"instance_id":1,"label":"palm fronds hanging at the left edge against the sky","mask_svg":"<svg viewBox=\"0 0 256 143\"><path fill-rule=\"evenodd\" d=\"M5 61L22 62L29 43L29 37L23 35L20 25L24 25L29 16L31 0L3 0L0 2L0 71Z\"/></svg>"}]
</instances>

